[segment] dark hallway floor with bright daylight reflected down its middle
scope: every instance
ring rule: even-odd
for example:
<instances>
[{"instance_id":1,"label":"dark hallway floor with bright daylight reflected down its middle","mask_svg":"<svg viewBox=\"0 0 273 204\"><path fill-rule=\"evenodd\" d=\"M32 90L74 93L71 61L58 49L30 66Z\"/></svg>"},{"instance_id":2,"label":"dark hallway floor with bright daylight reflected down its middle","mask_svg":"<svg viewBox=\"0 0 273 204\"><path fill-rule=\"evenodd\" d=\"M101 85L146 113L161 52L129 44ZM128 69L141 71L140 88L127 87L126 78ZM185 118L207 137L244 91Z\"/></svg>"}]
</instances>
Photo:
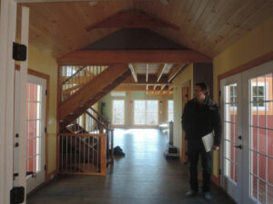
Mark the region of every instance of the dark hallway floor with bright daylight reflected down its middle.
<instances>
[{"instance_id":1,"label":"dark hallway floor with bright daylight reflected down its middle","mask_svg":"<svg viewBox=\"0 0 273 204\"><path fill-rule=\"evenodd\" d=\"M27 199L28 204L183 204L207 203L201 195L185 198L187 168L166 160L167 135L157 130L116 130L115 146L126 156L116 158L106 177L59 176ZM212 187L211 203L233 203Z\"/></svg>"}]
</instances>

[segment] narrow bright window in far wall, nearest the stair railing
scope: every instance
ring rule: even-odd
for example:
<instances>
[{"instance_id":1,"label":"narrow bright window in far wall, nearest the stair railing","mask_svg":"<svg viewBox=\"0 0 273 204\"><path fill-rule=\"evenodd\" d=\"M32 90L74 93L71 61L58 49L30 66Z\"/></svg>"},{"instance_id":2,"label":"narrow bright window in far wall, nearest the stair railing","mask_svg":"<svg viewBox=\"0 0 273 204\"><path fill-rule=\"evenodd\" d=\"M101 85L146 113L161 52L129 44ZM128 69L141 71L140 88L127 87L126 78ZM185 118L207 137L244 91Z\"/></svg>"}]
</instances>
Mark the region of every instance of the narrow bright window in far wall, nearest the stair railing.
<instances>
[{"instance_id":1,"label":"narrow bright window in far wall, nearest the stair railing","mask_svg":"<svg viewBox=\"0 0 273 204\"><path fill-rule=\"evenodd\" d=\"M125 124L125 101L124 100L113 100L112 106L112 123L114 125Z\"/></svg>"}]
</instances>

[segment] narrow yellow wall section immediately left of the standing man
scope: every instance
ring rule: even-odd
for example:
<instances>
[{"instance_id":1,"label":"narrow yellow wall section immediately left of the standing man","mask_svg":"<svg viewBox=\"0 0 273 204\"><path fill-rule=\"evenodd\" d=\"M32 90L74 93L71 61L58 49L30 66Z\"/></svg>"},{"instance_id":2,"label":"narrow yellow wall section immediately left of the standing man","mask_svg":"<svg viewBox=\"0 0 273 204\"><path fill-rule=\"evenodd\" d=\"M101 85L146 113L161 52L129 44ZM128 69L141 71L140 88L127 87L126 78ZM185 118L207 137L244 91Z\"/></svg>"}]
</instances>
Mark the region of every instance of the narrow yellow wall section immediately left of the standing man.
<instances>
[{"instance_id":1,"label":"narrow yellow wall section immediately left of the standing man","mask_svg":"<svg viewBox=\"0 0 273 204\"><path fill-rule=\"evenodd\" d=\"M187 66L187 68L177 75L174 80L174 109L175 109L175 121L174 121L174 145L181 151L182 147L182 125L181 116L183 112L182 108L182 85L191 82L191 95L193 92L193 64Z\"/></svg>"}]
</instances>

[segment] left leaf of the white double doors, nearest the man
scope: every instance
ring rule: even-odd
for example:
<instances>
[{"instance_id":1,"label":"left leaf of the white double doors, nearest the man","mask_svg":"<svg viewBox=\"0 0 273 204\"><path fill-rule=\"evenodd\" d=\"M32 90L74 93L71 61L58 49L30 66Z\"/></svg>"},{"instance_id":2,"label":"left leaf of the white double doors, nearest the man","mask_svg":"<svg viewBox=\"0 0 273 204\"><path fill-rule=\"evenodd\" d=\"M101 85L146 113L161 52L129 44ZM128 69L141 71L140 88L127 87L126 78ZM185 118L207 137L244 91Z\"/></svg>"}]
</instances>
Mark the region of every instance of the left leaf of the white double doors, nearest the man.
<instances>
[{"instance_id":1,"label":"left leaf of the white double doors, nearest the man","mask_svg":"<svg viewBox=\"0 0 273 204\"><path fill-rule=\"evenodd\" d=\"M221 186L241 203L242 197L242 136L241 136L241 76L240 74L221 81L221 110L223 120Z\"/></svg>"}]
</instances>

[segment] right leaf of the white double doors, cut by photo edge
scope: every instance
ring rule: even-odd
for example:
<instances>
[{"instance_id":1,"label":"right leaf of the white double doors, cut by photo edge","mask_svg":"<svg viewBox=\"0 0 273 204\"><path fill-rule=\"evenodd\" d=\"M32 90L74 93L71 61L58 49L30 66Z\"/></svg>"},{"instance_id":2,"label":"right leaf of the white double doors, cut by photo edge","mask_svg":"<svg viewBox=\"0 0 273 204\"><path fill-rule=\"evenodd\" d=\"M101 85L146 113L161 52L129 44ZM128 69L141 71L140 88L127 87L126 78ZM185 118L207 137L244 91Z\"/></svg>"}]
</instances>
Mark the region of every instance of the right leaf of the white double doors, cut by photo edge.
<instances>
[{"instance_id":1,"label":"right leaf of the white double doors, cut by photo edge","mask_svg":"<svg viewBox=\"0 0 273 204\"><path fill-rule=\"evenodd\" d=\"M243 73L248 141L245 203L273 203L273 62Z\"/></svg>"}]
</instances>

